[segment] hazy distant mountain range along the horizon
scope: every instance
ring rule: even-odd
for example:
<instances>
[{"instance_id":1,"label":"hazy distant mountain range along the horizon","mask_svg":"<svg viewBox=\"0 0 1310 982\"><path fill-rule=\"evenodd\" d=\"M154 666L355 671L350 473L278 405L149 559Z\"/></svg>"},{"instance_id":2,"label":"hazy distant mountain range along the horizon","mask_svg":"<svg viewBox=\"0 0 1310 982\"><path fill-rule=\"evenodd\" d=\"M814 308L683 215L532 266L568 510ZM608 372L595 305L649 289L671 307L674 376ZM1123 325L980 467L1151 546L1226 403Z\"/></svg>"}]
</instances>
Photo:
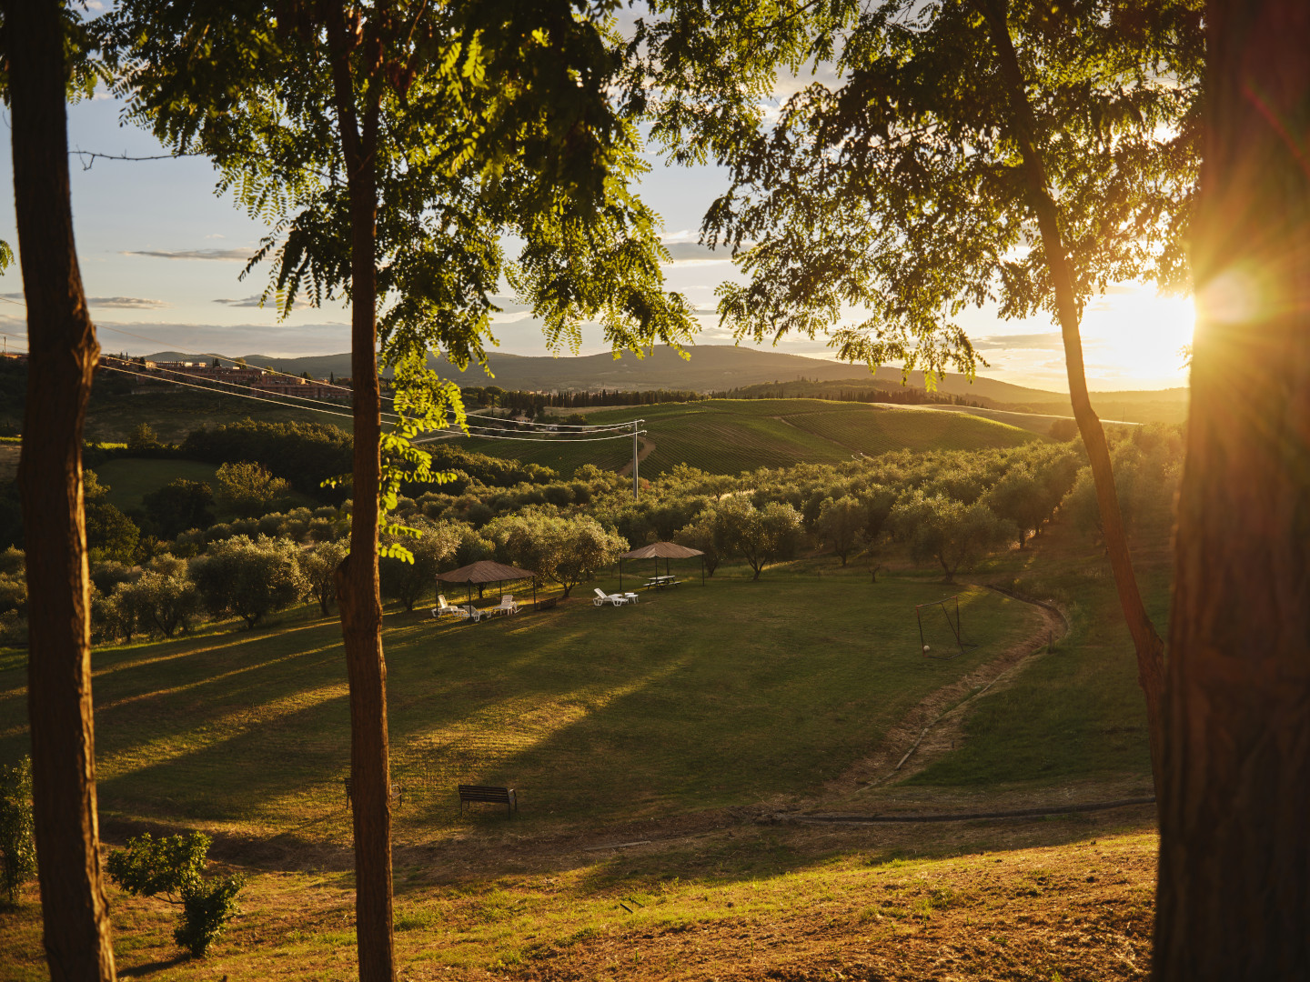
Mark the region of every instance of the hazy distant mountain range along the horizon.
<instances>
[{"instance_id":1,"label":"hazy distant mountain range along the horizon","mask_svg":"<svg viewBox=\"0 0 1310 982\"><path fill-rule=\"evenodd\" d=\"M583 355L578 357L524 356L493 352L487 361L494 378L477 367L470 365L460 372L444 359L432 359L431 367L444 378L451 378L464 386L499 385L502 389L540 390L595 390L595 389L690 389L694 391L718 391L735 386L757 385L760 382L787 382L800 378L816 381L878 381L888 386L900 385L899 368L880 368L870 377L862 374L858 365L842 361L827 361L803 355L789 355L781 351L760 351L732 344L698 344L689 347L689 360L684 361L676 351L667 346L656 347L646 357L631 354L622 357L612 355ZM155 360L185 360L186 355L160 352L151 355ZM193 356L194 357L194 356ZM300 374L308 372L316 378L350 376L350 355L318 355L313 357L269 357L267 355L246 355L252 365L276 368L282 372ZM910 372L908 385L922 389L924 373ZM997 406L1040 406L1044 411L1057 411L1060 406L1068 411L1069 397L1064 393L1045 389L1028 389L994 378L965 378L947 376L938 389L950 395L964 395L975 399L988 399ZM1162 401L1184 402L1186 389L1142 393L1100 393L1115 402Z\"/></svg>"}]
</instances>

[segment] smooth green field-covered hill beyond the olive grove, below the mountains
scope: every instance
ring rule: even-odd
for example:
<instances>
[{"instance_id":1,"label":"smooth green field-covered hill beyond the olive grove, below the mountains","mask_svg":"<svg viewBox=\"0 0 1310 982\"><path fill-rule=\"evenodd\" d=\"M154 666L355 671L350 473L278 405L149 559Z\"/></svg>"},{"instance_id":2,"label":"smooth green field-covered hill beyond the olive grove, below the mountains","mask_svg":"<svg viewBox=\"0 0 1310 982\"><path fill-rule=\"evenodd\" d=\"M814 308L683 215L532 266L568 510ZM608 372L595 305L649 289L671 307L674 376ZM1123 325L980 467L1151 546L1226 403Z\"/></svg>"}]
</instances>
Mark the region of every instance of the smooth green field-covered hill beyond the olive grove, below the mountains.
<instances>
[{"instance_id":1,"label":"smooth green field-covered hill beyond the olive grove, below the mountains","mask_svg":"<svg viewBox=\"0 0 1310 982\"><path fill-rule=\"evenodd\" d=\"M679 464L711 474L739 474L802 462L834 464L861 453L1017 446L1036 439L1019 427L965 414L824 399L711 399L587 414L591 423L638 418L646 420L646 440L654 444L641 465L647 477ZM572 446L469 440L461 445L563 474L583 464L617 469L631 460L631 445L625 440Z\"/></svg>"}]
</instances>

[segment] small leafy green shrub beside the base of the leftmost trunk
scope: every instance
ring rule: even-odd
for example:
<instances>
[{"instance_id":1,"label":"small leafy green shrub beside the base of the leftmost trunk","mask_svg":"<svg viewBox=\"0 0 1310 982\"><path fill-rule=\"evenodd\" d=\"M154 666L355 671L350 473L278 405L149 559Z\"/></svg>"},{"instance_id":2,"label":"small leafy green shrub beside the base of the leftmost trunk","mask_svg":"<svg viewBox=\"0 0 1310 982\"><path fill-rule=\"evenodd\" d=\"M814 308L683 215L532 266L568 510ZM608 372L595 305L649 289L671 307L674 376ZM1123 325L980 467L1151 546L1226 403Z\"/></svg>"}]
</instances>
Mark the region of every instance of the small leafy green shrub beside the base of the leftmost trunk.
<instances>
[{"instance_id":1,"label":"small leafy green shrub beside the base of the leftmost trunk","mask_svg":"<svg viewBox=\"0 0 1310 982\"><path fill-rule=\"evenodd\" d=\"M127 848L109 854L109 879L136 897L165 894L169 903L182 907L173 940L191 957L202 957L240 913L237 894L245 877L225 876L207 880L204 858L210 837L202 833L153 839L147 833L128 839Z\"/></svg>"}]
</instances>

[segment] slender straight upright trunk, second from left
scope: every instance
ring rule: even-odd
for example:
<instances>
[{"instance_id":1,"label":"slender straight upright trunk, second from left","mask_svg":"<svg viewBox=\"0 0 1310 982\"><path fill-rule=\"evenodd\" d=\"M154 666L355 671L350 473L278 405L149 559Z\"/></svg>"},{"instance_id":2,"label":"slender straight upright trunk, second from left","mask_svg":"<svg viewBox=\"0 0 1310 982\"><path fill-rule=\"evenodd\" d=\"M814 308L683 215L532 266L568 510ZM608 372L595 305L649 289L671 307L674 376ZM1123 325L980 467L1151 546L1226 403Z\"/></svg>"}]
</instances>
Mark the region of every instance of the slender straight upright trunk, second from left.
<instances>
[{"instance_id":1,"label":"slender straight upright trunk, second from left","mask_svg":"<svg viewBox=\"0 0 1310 982\"><path fill-rule=\"evenodd\" d=\"M350 682L350 775L355 826L355 936L362 982L394 982L392 936L392 778L386 736L386 661L377 581L381 391L377 380L377 102L355 111L345 10L329 16L333 88L350 191L350 367L355 450L350 555L337 570ZM365 62L372 63L365 42Z\"/></svg>"}]
</instances>

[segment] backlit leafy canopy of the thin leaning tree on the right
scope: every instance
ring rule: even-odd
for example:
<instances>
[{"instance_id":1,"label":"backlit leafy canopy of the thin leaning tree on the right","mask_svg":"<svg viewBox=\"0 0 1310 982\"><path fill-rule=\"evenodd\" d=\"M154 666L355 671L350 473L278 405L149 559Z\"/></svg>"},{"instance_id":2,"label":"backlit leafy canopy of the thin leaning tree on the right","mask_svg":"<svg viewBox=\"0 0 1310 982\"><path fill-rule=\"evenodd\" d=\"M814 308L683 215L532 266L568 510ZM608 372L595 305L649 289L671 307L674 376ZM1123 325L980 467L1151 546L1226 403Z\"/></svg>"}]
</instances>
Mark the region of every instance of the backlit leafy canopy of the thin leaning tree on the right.
<instances>
[{"instance_id":1,"label":"backlit leafy canopy of the thin leaning tree on the right","mask_svg":"<svg viewBox=\"0 0 1310 982\"><path fill-rule=\"evenodd\" d=\"M989 17L1013 39L1079 306L1121 280L1186 284L1199 4L656 8L633 85L676 158L730 172L702 233L747 276L719 289L738 336L831 333L846 360L971 373L965 305L1055 314Z\"/></svg>"}]
</instances>

